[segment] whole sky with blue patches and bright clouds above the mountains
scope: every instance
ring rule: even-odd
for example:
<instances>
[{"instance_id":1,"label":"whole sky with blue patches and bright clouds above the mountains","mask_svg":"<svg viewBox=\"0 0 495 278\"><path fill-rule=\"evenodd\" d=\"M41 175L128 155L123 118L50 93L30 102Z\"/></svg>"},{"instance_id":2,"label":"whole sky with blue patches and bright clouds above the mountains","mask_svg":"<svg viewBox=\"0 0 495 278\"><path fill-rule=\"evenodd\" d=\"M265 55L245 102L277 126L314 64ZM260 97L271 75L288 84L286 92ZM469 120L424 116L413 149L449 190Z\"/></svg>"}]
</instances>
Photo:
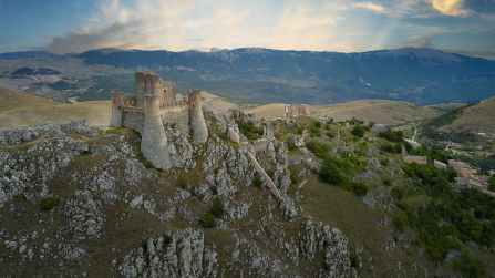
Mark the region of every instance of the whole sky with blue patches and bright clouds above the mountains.
<instances>
[{"instance_id":1,"label":"whole sky with blue patches and bright clouds above the mountains","mask_svg":"<svg viewBox=\"0 0 495 278\"><path fill-rule=\"evenodd\" d=\"M0 0L0 52L251 47L495 58L495 0Z\"/></svg>"}]
</instances>

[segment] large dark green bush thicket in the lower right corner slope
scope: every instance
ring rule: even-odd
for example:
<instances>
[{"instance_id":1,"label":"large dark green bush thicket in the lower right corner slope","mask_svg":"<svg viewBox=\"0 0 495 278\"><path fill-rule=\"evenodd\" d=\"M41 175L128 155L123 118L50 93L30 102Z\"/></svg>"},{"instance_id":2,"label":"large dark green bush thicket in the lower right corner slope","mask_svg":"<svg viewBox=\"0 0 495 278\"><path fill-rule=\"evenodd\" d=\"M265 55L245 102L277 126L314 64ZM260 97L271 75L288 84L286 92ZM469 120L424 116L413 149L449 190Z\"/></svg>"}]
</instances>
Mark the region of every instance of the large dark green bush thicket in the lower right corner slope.
<instances>
[{"instance_id":1,"label":"large dark green bush thicket in the lower right corner slope","mask_svg":"<svg viewBox=\"0 0 495 278\"><path fill-rule=\"evenodd\" d=\"M400 210L393 223L417 231L419 243L435 261L443 261L452 250L468 249L475 243L493 248L495 233L495 200L476 189L456 191L452 187L455 174L431 165L410 164L404 168L413 181L413 191L393 187L391 195ZM456 268L465 277L483 274L477 258L464 254Z\"/></svg>"}]
</instances>

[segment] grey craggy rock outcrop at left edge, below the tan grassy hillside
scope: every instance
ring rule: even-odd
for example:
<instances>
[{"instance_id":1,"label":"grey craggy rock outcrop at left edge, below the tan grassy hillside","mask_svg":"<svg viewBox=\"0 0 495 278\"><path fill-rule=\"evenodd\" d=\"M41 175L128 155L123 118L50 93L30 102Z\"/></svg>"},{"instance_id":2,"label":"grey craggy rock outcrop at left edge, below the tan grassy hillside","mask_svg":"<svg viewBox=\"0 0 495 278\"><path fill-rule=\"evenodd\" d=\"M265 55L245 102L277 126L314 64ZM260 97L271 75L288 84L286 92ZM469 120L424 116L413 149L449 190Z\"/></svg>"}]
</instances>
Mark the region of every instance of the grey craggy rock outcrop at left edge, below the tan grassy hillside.
<instances>
[{"instance_id":1,"label":"grey craggy rock outcrop at left edge, below the tan grassy hillside","mask_svg":"<svg viewBox=\"0 0 495 278\"><path fill-rule=\"evenodd\" d=\"M94 135L84 123L43 125L0 133L0 207L14 196L38 199L48 195L47 183L74 156L89 151L85 142L66 133ZM80 133L80 134L81 134ZM37 142L48 136L51 140Z\"/></svg>"}]
</instances>

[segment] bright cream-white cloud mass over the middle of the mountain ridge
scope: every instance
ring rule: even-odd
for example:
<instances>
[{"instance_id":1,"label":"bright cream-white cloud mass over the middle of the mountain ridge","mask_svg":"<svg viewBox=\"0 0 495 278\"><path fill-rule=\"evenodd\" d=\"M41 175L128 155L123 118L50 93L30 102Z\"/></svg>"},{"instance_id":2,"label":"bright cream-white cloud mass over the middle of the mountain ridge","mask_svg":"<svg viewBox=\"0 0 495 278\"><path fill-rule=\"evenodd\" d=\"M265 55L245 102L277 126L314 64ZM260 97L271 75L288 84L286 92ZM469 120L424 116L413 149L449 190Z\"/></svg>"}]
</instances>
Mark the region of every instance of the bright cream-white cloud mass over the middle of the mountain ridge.
<instances>
[{"instance_id":1,"label":"bright cream-white cloud mass over the middle of the mountain ridge","mask_svg":"<svg viewBox=\"0 0 495 278\"><path fill-rule=\"evenodd\" d=\"M266 3L264 3L266 4ZM267 4L268 6L268 4ZM265 47L353 51L351 30L337 27L348 1L289 1L274 8L237 1L140 0L125 4L103 0L93 18L65 35L53 38L55 53L99 48L189 50Z\"/></svg>"}]
</instances>

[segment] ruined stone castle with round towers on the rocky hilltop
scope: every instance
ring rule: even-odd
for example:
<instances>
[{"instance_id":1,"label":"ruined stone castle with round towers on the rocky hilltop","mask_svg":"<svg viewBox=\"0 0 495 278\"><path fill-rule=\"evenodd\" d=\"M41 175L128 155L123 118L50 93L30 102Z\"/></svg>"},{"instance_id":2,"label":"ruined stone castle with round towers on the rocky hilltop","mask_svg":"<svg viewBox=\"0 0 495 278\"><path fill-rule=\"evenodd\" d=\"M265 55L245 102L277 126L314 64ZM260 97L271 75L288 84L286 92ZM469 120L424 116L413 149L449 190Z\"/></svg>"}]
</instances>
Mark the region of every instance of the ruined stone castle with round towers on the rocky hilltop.
<instances>
[{"instance_id":1,"label":"ruined stone castle with round towers on the rocky hilltop","mask_svg":"<svg viewBox=\"0 0 495 278\"><path fill-rule=\"evenodd\" d=\"M141 133L141 151L153 166L174 167L164 124L173 124L182 133L190 134L195 144L207 141L200 91L192 90L186 99L181 99L173 83L152 72L136 72L134 93L134 96L113 94L110 125Z\"/></svg>"}]
</instances>

